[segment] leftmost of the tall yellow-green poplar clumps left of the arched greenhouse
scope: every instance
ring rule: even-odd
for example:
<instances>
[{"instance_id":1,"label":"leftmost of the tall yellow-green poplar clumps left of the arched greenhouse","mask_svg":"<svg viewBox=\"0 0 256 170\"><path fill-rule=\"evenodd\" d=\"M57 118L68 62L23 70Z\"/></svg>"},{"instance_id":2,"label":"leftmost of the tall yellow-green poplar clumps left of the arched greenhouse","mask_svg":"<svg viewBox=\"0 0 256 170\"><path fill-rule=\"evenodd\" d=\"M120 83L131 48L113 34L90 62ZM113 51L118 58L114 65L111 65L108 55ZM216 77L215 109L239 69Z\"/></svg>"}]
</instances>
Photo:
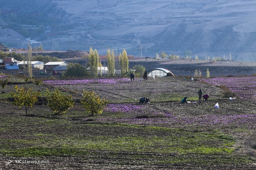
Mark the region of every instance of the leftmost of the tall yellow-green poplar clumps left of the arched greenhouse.
<instances>
[{"instance_id":1,"label":"leftmost of the tall yellow-green poplar clumps left of the arched greenhouse","mask_svg":"<svg viewBox=\"0 0 256 170\"><path fill-rule=\"evenodd\" d=\"M93 77L97 77L98 67L99 67L99 55L96 49L93 51L92 48L90 48L89 62L90 62L91 75Z\"/></svg>"}]
</instances>

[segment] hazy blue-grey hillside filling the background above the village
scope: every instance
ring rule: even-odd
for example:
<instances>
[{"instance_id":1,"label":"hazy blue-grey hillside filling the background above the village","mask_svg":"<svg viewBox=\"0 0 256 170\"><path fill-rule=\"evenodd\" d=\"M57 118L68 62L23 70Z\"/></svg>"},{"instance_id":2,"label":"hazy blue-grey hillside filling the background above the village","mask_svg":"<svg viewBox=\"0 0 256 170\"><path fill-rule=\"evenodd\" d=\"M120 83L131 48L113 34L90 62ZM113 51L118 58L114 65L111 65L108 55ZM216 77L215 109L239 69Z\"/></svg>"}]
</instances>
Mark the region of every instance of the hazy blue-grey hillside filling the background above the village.
<instances>
[{"instance_id":1,"label":"hazy blue-grey hillside filling the background above the village","mask_svg":"<svg viewBox=\"0 0 256 170\"><path fill-rule=\"evenodd\" d=\"M237 61L256 60L256 1L2 0L0 9L0 38L9 34L4 43L19 48L30 36L38 41L32 46L66 51L70 38L71 49L93 47L100 54L110 47L140 56L142 48L144 57L164 51L204 59L231 52Z\"/></svg>"}]
</instances>

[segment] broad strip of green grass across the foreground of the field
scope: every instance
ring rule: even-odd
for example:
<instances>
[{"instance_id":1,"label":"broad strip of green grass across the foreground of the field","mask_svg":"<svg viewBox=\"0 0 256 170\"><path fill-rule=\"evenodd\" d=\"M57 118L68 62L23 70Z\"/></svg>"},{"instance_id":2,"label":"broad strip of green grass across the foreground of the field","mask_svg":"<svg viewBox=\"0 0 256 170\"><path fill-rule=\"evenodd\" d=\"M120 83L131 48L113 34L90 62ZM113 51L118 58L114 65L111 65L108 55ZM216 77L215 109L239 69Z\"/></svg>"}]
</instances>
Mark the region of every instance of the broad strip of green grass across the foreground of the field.
<instances>
[{"instance_id":1,"label":"broad strip of green grass across the foreground of the field","mask_svg":"<svg viewBox=\"0 0 256 170\"><path fill-rule=\"evenodd\" d=\"M41 122L41 121L39 121ZM38 123L39 123L38 122ZM65 122L65 121L64 121ZM40 123L39 123L40 124ZM62 147L62 148L79 148L79 149L93 149L93 150L109 150L109 151L129 151L129 152L152 152L159 154L189 154L189 153L203 153L203 154L231 154L234 149L227 148L234 144L232 136L219 133L202 133L191 132L182 129L171 129L163 127L150 127L126 124L71 124L63 123L55 119L45 119L41 122L41 126L49 126L49 128L65 129L69 132L63 135L54 133L33 133L33 139L30 135L24 136L22 139L1 139L3 143L17 144L19 147L34 145L41 147ZM110 136L104 135L82 135L76 133L72 129L118 129L125 128L126 131L139 131L130 136ZM137 129L137 130L136 130ZM140 135L147 134L147 135ZM166 136L159 136L158 134L168 134ZM27 139L26 139L27 138ZM227 146L227 147L226 147Z\"/></svg>"}]
</instances>

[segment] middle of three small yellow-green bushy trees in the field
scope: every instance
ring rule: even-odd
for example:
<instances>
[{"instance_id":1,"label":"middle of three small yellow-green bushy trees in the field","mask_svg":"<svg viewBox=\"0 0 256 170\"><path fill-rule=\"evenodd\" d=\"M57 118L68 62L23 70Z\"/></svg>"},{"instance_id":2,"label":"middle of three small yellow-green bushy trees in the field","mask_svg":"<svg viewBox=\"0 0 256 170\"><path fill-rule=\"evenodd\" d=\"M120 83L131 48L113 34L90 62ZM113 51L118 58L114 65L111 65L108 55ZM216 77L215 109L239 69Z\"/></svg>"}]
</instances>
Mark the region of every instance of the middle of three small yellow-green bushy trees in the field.
<instances>
[{"instance_id":1,"label":"middle of three small yellow-green bushy trees in the field","mask_svg":"<svg viewBox=\"0 0 256 170\"><path fill-rule=\"evenodd\" d=\"M72 108L75 104L72 95L63 95L59 89L55 89L52 93L46 89L46 95L47 106L56 114L66 113L66 110Z\"/></svg>"}]
</instances>

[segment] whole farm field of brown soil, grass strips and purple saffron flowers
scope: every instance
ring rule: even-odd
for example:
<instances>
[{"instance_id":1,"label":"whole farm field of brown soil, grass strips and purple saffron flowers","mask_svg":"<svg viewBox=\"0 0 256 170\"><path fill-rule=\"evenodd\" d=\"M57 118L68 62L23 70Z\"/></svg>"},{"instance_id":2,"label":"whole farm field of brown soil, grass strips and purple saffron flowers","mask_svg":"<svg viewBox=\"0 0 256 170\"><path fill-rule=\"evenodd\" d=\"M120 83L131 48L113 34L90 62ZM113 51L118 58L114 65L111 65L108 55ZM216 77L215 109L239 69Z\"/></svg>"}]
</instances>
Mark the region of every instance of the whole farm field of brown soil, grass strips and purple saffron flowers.
<instances>
[{"instance_id":1,"label":"whole farm field of brown soil, grass strips and purple saffron flowers","mask_svg":"<svg viewBox=\"0 0 256 170\"><path fill-rule=\"evenodd\" d=\"M14 86L0 94L0 169L256 168L255 102L222 98L219 86L171 77L39 85L76 101L83 89L96 91L111 103L94 117L80 103L61 115L37 104L25 115L7 102ZM197 102L199 87L208 102ZM150 104L138 104L143 96ZM185 96L191 103L180 103Z\"/></svg>"}]
</instances>

